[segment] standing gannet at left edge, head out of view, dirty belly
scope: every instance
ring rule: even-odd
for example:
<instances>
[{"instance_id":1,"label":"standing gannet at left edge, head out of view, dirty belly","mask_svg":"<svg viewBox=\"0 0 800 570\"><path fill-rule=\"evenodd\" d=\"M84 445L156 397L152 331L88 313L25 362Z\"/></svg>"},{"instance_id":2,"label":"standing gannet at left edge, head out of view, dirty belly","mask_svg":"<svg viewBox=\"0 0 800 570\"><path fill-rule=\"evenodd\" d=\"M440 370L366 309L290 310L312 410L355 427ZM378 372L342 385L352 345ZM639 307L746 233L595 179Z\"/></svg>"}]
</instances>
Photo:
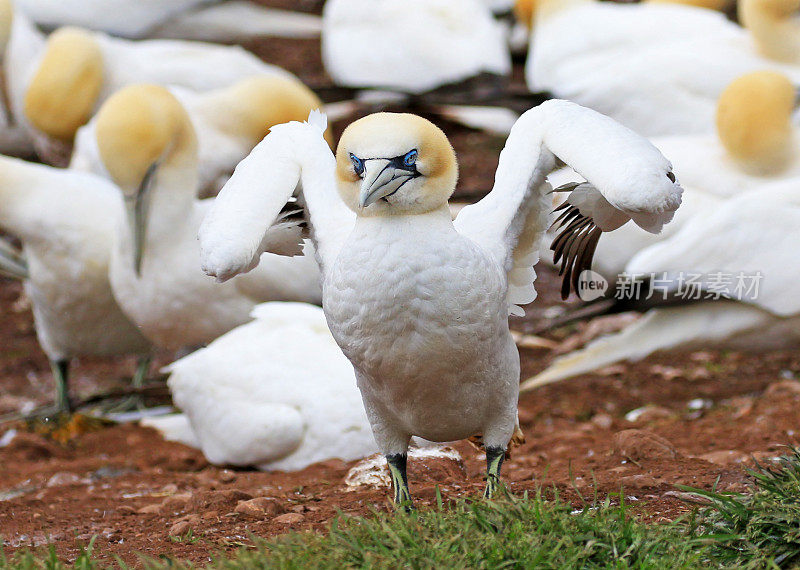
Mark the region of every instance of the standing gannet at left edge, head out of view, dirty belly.
<instances>
[{"instance_id":1,"label":"standing gannet at left edge, head out of view, dirty belly","mask_svg":"<svg viewBox=\"0 0 800 570\"><path fill-rule=\"evenodd\" d=\"M0 228L22 242L25 265L17 277L53 370L56 411L69 409L75 356L138 354L134 383L147 373L150 345L108 281L114 213L121 210L117 189L100 177L0 156Z\"/></svg>"}]
</instances>

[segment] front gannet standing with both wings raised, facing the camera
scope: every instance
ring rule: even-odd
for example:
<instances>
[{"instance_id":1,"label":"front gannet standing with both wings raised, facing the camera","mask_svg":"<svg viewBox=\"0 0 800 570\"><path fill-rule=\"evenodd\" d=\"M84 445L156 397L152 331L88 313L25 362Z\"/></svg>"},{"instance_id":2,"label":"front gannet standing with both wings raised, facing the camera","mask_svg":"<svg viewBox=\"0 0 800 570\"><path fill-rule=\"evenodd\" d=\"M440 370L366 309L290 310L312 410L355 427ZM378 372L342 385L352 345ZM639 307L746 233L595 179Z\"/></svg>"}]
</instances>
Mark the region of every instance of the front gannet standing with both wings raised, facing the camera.
<instances>
[{"instance_id":1,"label":"front gannet standing with both wings raised, facing the camera","mask_svg":"<svg viewBox=\"0 0 800 570\"><path fill-rule=\"evenodd\" d=\"M275 127L237 167L201 228L203 268L225 280L252 267L266 225L301 181L323 309L355 368L395 501L410 500L411 436L482 434L490 496L518 425L519 354L508 315L536 296L533 265L550 210L545 175L557 158L584 174L603 197L587 213L604 216L606 229L633 218L659 231L680 204L670 163L611 119L548 101L512 129L492 192L453 221L456 157L432 123L367 116L345 130L335 157L325 126L312 115ZM600 230L577 209L566 214L565 252L580 269Z\"/></svg>"}]
</instances>

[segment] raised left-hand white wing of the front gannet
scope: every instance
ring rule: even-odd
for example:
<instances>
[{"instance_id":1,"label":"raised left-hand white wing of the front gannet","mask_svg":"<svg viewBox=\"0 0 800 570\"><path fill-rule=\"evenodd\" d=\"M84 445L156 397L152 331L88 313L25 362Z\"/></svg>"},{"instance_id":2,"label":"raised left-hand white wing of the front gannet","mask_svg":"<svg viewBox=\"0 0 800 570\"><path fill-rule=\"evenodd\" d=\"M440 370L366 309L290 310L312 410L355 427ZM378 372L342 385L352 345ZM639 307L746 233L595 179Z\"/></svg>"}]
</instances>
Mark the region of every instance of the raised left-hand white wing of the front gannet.
<instances>
[{"instance_id":1,"label":"raised left-hand white wing of the front gannet","mask_svg":"<svg viewBox=\"0 0 800 570\"><path fill-rule=\"evenodd\" d=\"M272 225L292 196L305 202L321 264L331 263L355 214L339 198L325 116L273 127L236 167L200 227L203 270L219 281L249 271L270 248Z\"/></svg>"}]
</instances>

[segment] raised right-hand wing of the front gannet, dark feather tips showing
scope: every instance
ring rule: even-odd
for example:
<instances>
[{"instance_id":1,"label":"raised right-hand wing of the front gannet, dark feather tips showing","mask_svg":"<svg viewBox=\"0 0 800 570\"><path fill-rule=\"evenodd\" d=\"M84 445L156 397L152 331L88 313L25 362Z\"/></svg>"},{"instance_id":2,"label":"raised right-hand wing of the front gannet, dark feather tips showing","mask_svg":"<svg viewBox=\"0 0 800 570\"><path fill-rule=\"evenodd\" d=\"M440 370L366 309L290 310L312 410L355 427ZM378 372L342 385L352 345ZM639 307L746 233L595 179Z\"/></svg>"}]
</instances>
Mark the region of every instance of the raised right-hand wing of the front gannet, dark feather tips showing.
<instances>
[{"instance_id":1,"label":"raised right-hand wing of the front gannet, dark feather tips showing","mask_svg":"<svg viewBox=\"0 0 800 570\"><path fill-rule=\"evenodd\" d=\"M506 146L492 191L459 213L459 232L478 243L506 270L509 311L532 301L541 238L549 215L546 175L560 159L588 183L568 187L554 241L564 259L565 289L574 286L601 231L629 219L650 232L668 223L681 202L681 187L669 161L646 139L595 111L553 100L520 117ZM572 203L574 202L574 203Z\"/></svg>"}]
</instances>

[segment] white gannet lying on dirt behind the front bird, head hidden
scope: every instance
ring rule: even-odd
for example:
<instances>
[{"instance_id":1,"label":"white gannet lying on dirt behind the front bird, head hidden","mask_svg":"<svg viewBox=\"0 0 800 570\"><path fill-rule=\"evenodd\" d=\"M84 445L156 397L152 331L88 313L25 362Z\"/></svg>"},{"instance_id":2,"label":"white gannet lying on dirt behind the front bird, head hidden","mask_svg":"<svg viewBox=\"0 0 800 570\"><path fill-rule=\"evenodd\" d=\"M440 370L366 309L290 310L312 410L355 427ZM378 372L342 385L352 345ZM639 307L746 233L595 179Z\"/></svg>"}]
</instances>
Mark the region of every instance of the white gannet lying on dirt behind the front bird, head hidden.
<instances>
[{"instance_id":1,"label":"white gannet lying on dirt behind the front bird, head hidden","mask_svg":"<svg viewBox=\"0 0 800 570\"><path fill-rule=\"evenodd\" d=\"M375 453L353 367L322 309L264 303L252 316L164 369L208 460L294 471ZM147 425L180 437L172 417Z\"/></svg>"}]
</instances>

